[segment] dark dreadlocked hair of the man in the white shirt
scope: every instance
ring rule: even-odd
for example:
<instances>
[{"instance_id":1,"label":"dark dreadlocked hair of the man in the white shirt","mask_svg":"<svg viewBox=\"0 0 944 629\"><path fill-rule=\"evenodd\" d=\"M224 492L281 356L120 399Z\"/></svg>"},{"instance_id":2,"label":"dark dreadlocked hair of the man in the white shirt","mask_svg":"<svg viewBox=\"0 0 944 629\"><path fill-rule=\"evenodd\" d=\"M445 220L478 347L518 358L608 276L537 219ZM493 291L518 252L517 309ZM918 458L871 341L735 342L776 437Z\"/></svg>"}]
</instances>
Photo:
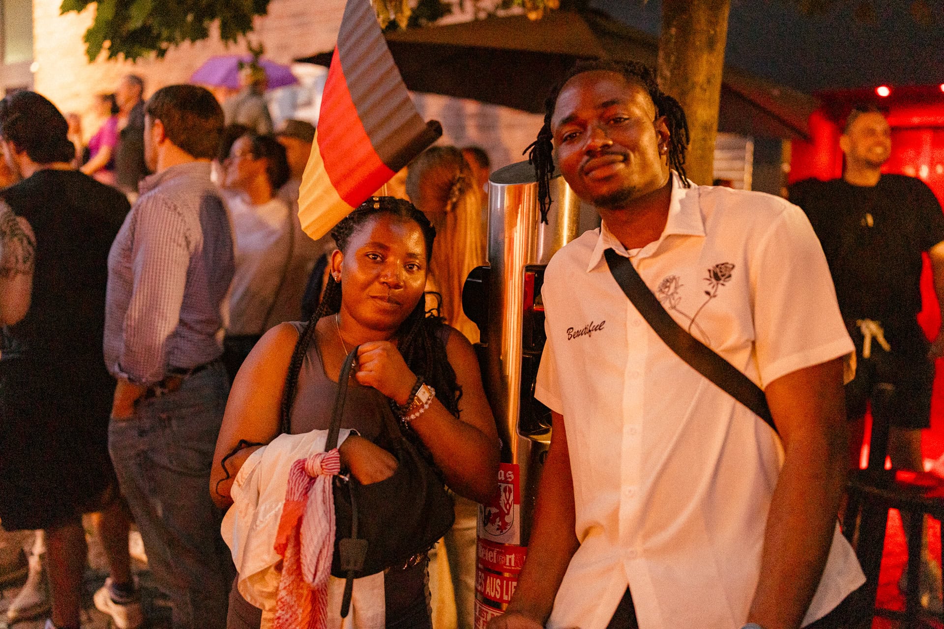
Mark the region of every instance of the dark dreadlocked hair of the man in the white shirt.
<instances>
[{"instance_id":1,"label":"dark dreadlocked hair of the man in the white shirt","mask_svg":"<svg viewBox=\"0 0 944 629\"><path fill-rule=\"evenodd\" d=\"M550 180L554 176L554 134L550 130L550 119L554 116L557 106L557 97L561 94L567 81L585 72L604 71L621 74L627 81L637 85L649 93L652 104L655 105L656 118L666 117L668 127L668 165L682 176L683 186L690 186L685 177L685 150L688 147L688 122L685 112L679 101L675 100L659 89L655 73L649 66L638 61L615 61L612 59L596 59L592 61L578 61L565 74L564 78L555 85L548 98L544 101L544 125L537 134L537 140L525 149L528 161L534 166L537 175L537 195L541 205L541 220L548 222L548 208L550 207Z\"/></svg>"}]
</instances>

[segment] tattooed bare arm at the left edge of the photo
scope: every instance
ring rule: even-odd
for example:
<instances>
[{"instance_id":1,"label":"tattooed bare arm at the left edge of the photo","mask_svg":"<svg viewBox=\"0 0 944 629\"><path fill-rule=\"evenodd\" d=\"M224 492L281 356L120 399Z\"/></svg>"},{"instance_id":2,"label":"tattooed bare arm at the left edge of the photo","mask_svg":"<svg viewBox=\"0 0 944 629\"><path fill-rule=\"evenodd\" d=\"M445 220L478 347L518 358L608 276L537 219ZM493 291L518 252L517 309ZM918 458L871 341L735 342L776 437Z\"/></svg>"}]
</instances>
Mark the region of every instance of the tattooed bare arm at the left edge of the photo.
<instances>
[{"instance_id":1,"label":"tattooed bare arm at the left edge of the photo","mask_svg":"<svg viewBox=\"0 0 944 629\"><path fill-rule=\"evenodd\" d=\"M29 309L35 254L32 227L0 203L0 325L19 322Z\"/></svg>"}]
</instances>

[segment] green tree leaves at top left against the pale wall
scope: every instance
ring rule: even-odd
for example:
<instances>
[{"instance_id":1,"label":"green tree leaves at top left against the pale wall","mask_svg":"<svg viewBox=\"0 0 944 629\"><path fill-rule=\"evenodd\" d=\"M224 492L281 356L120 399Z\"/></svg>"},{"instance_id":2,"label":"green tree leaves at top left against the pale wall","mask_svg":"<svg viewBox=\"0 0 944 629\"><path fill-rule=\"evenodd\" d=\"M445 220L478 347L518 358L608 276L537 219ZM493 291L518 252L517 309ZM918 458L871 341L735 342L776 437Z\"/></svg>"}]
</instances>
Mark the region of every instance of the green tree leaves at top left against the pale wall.
<instances>
[{"instance_id":1,"label":"green tree leaves at top left against the pale wall","mask_svg":"<svg viewBox=\"0 0 944 629\"><path fill-rule=\"evenodd\" d=\"M81 12L91 0L62 0L59 12ZM210 37L219 23L220 39L235 43L252 30L252 21L265 15L269 0L100 0L93 25L85 33L90 61L104 50L108 58L162 58L184 41Z\"/></svg>"}]
</instances>

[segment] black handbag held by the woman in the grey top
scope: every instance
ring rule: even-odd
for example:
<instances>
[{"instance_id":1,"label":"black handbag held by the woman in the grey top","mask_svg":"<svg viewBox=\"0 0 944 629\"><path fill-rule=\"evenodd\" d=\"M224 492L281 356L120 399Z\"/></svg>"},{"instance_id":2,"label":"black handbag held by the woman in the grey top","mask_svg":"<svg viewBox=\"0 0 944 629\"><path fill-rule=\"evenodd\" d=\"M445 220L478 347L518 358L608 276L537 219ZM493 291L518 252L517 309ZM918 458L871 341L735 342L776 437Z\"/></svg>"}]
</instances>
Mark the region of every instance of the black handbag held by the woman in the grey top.
<instances>
[{"instance_id":1,"label":"black handbag held by the woman in the grey top","mask_svg":"<svg viewBox=\"0 0 944 629\"><path fill-rule=\"evenodd\" d=\"M337 447L347 384L357 349L345 358L338 377L325 452ZM455 521L452 497L416 446L403 437L393 411L384 407L383 428L396 457L396 472L379 483L361 485L353 475L335 476L335 540L331 574L346 579L341 617L350 608L354 579L405 566L446 535Z\"/></svg>"}]
</instances>

